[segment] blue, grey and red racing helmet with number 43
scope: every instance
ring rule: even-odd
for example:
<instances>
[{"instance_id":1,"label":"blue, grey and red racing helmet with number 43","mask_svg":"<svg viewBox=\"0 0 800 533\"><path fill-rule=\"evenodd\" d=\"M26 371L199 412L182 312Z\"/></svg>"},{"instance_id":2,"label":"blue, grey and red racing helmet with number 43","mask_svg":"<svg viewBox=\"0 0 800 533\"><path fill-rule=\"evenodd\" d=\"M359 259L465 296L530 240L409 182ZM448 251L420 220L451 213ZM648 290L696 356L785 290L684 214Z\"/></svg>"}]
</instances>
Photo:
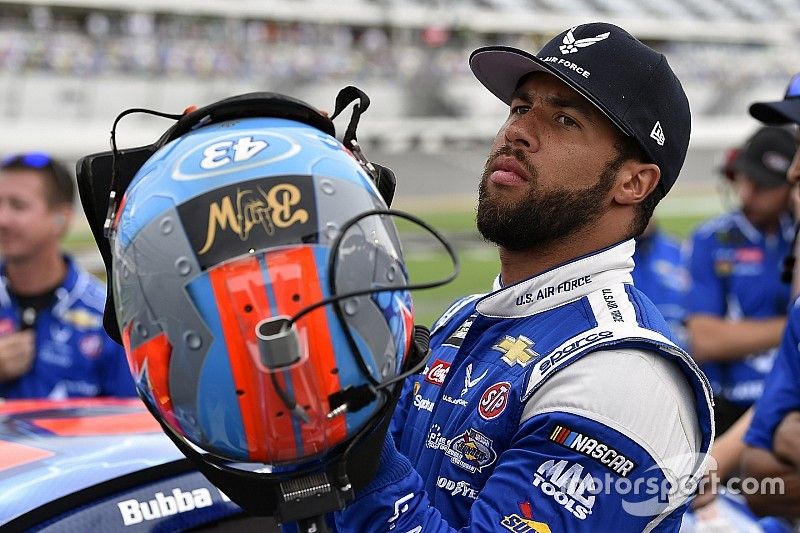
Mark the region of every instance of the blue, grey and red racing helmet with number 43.
<instances>
[{"instance_id":1,"label":"blue, grey and red racing helmet with number 43","mask_svg":"<svg viewBox=\"0 0 800 533\"><path fill-rule=\"evenodd\" d=\"M363 162L304 121L201 121L160 146L116 210L109 282L162 424L213 456L269 464L368 428L388 395L348 410L348 391L397 377L412 344L394 224L354 222L385 209Z\"/></svg>"}]
</instances>

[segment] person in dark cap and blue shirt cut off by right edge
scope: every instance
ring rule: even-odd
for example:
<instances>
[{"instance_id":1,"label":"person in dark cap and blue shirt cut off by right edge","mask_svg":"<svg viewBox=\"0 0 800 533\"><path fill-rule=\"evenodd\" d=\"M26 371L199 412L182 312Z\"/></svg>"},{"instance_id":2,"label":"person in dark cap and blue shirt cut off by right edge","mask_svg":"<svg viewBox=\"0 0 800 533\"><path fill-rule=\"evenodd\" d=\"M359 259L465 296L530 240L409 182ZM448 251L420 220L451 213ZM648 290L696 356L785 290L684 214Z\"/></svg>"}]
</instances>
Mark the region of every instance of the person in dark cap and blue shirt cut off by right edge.
<instances>
[{"instance_id":1,"label":"person in dark cap and blue shirt cut off by right edge","mask_svg":"<svg viewBox=\"0 0 800 533\"><path fill-rule=\"evenodd\" d=\"M792 124L800 138L800 74L789 82L782 101L758 102L750 114L768 124ZM800 148L787 172L789 182L800 186ZM794 277L798 277L795 266ZM780 479L784 490L777 494L747 495L750 507L762 515L800 519L800 303L789 312L775 365L764 382L764 394L744 437L742 454L745 475L758 479Z\"/></svg>"}]
</instances>

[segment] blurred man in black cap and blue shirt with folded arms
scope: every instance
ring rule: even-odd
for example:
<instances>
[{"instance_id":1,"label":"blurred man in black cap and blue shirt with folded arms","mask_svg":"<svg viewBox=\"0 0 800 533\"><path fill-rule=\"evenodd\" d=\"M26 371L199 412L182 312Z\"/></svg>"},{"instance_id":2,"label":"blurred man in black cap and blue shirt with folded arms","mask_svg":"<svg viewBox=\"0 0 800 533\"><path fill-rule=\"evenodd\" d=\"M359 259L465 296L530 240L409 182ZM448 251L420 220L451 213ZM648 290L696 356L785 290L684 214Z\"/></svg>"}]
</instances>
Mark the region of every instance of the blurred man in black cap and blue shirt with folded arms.
<instances>
[{"instance_id":1,"label":"blurred man in black cap and blue shirt with folded arms","mask_svg":"<svg viewBox=\"0 0 800 533\"><path fill-rule=\"evenodd\" d=\"M732 166L741 207L690 239L686 328L714 387L719 433L761 396L786 322L789 287L780 268L794 229L786 182L793 155L788 130L756 131Z\"/></svg>"}]
</instances>

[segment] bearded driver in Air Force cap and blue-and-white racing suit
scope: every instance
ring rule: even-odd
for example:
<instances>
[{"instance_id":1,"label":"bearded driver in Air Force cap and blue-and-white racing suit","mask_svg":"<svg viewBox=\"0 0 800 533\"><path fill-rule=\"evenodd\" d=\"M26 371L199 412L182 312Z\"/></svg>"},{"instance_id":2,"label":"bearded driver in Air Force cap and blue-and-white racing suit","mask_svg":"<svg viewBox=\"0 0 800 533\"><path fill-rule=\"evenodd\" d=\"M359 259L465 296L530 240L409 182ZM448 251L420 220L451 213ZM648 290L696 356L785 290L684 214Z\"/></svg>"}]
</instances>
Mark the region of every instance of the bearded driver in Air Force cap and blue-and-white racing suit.
<instances>
[{"instance_id":1,"label":"bearded driver in Air Force cap and blue-and-white racing suit","mask_svg":"<svg viewBox=\"0 0 800 533\"><path fill-rule=\"evenodd\" d=\"M676 531L713 439L710 388L630 272L686 155L684 91L605 23L470 65L510 106L477 212L501 288L436 323L378 474L337 527Z\"/></svg>"}]
</instances>

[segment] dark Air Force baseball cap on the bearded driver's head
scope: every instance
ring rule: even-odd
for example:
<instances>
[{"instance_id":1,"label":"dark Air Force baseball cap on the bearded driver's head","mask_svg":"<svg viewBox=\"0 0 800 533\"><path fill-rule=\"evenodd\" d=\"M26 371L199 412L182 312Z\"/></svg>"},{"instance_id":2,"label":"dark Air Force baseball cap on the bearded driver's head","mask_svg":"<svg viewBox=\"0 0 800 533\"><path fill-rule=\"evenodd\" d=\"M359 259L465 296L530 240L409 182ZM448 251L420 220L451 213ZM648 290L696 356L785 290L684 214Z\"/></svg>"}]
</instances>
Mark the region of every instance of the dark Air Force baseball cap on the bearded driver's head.
<instances>
[{"instance_id":1,"label":"dark Air Force baseball cap on the bearded driver's head","mask_svg":"<svg viewBox=\"0 0 800 533\"><path fill-rule=\"evenodd\" d=\"M478 48L475 77L506 104L528 73L548 72L636 139L661 169L664 194L678 179L691 134L689 100L667 58L613 24L574 26L536 55L509 46Z\"/></svg>"}]
</instances>

